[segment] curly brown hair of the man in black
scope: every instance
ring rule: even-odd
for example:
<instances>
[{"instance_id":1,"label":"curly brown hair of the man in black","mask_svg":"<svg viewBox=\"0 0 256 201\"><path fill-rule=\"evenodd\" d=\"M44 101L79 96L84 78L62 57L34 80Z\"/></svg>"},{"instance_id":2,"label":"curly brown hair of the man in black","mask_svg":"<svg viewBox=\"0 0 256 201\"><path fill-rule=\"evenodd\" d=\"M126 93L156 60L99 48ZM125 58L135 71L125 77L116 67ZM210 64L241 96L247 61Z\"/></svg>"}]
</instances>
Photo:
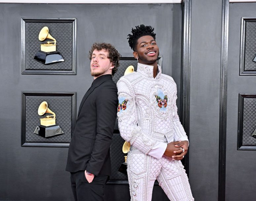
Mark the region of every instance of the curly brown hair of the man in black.
<instances>
[{"instance_id":1,"label":"curly brown hair of the man in black","mask_svg":"<svg viewBox=\"0 0 256 201\"><path fill-rule=\"evenodd\" d=\"M110 43L93 43L91 46L91 50L89 51L89 59L91 60L91 55L94 50L106 50L108 52L108 59L113 64L114 68L112 69L112 75L114 75L117 72L117 68L120 65L119 59L121 57L121 54L118 53L118 51L115 49L114 46L112 46Z\"/></svg>"}]
</instances>

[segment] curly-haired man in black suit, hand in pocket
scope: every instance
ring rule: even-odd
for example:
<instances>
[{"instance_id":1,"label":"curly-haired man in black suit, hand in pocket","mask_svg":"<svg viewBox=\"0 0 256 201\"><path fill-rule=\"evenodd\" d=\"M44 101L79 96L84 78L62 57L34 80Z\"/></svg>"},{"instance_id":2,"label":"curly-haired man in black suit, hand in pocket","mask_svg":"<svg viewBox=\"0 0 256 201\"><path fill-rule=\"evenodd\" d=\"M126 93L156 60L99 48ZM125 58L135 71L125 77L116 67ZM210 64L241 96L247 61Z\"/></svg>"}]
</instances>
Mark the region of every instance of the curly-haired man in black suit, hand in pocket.
<instances>
[{"instance_id":1,"label":"curly-haired man in black suit, hand in pocket","mask_svg":"<svg viewBox=\"0 0 256 201\"><path fill-rule=\"evenodd\" d=\"M120 56L107 43L94 43L89 51L94 81L78 110L66 166L75 201L103 201L104 185L111 173L109 148L118 104L112 75Z\"/></svg>"}]
</instances>

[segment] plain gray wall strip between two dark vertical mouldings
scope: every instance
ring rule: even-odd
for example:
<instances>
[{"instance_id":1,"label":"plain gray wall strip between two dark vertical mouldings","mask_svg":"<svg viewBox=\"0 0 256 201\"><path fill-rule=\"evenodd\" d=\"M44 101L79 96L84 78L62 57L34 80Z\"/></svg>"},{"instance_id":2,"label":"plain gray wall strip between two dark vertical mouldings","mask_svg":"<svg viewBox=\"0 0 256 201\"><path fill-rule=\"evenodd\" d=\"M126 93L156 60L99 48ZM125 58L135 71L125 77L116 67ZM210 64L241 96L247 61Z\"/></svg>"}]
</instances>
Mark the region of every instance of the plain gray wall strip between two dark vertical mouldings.
<instances>
[{"instance_id":1,"label":"plain gray wall strip between two dark vertical mouldings","mask_svg":"<svg viewBox=\"0 0 256 201\"><path fill-rule=\"evenodd\" d=\"M221 14L222 1L192 1L189 180L197 201L218 200Z\"/></svg>"}]
</instances>

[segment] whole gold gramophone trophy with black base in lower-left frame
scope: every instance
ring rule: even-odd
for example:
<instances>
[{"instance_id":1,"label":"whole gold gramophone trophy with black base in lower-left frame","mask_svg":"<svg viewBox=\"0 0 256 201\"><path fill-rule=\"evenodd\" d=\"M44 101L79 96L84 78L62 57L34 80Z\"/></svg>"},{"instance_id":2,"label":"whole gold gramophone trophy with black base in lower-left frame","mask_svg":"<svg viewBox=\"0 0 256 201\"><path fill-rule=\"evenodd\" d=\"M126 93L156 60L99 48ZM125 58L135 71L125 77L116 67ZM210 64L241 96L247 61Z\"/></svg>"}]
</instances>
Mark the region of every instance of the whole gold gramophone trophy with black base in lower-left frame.
<instances>
[{"instance_id":1,"label":"whole gold gramophone trophy with black base in lower-left frame","mask_svg":"<svg viewBox=\"0 0 256 201\"><path fill-rule=\"evenodd\" d=\"M38 115L42 116L45 113L50 113L52 115L40 118L40 125L36 127L34 133L45 138L64 134L62 129L56 125L55 113L48 108L46 101L42 102L38 107Z\"/></svg>"}]
</instances>

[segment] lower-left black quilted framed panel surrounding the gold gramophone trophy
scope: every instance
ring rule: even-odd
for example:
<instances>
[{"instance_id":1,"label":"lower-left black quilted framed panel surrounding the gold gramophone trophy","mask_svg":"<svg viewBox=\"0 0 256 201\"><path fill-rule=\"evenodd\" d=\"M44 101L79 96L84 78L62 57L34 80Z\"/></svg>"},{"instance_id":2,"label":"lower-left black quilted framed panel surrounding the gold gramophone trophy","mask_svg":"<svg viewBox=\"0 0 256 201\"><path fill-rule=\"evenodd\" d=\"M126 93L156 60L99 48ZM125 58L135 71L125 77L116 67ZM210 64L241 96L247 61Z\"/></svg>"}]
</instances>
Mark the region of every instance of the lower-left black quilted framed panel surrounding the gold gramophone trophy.
<instances>
[{"instance_id":1,"label":"lower-left black quilted framed panel surrounding the gold gramophone trophy","mask_svg":"<svg viewBox=\"0 0 256 201\"><path fill-rule=\"evenodd\" d=\"M34 131L40 125L38 107L43 102L48 103L56 114L56 125L64 134L44 138ZM68 147L76 120L76 93L70 92L22 92L21 116L21 146L22 147Z\"/></svg>"}]
</instances>

